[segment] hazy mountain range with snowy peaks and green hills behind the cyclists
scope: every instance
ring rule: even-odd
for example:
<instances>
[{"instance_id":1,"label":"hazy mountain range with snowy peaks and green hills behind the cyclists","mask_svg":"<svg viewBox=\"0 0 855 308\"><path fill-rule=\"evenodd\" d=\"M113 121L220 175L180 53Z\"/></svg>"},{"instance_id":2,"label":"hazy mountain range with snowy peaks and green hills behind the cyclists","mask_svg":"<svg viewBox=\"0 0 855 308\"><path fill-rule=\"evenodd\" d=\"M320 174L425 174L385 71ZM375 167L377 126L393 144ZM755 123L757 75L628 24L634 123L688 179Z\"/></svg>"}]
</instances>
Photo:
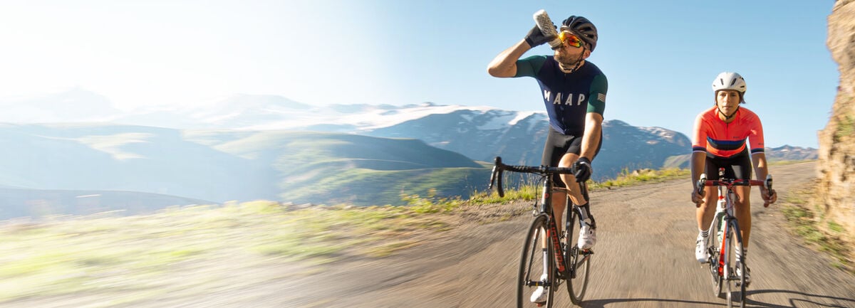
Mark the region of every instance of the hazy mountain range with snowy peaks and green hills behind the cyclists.
<instances>
[{"instance_id":1,"label":"hazy mountain range with snowy peaks and green hills behind the cyclists","mask_svg":"<svg viewBox=\"0 0 855 308\"><path fill-rule=\"evenodd\" d=\"M15 111L0 120L17 122L0 125L0 188L7 189L0 192L0 218L26 215L4 208L33 202L68 209L74 194L102 196L94 207L92 199L75 199L88 200L90 209L127 210L119 199L103 197L106 192L137 194L128 200L148 199L140 204L150 208L227 200L383 205L400 204L401 195L410 194L465 197L486 188L487 162L495 156L540 165L547 129L540 112L434 103L317 107L281 96L237 95L199 106L122 112L103 96L75 89L0 101L0 107ZM610 119L594 178L686 166L689 148L679 132ZM811 160L817 150L785 146L767 149L767 155Z\"/></svg>"}]
</instances>

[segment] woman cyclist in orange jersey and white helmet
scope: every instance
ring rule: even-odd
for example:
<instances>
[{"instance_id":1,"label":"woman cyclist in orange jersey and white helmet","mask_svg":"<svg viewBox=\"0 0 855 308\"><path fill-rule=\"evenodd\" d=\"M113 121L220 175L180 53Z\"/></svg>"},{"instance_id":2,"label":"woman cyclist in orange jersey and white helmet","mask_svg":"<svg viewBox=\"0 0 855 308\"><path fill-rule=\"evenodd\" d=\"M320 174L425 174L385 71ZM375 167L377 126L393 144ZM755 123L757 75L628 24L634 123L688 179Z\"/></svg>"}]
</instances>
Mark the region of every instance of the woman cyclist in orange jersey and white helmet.
<instances>
[{"instance_id":1,"label":"woman cyclist in orange jersey and white helmet","mask_svg":"<svg viewBox=\"0 0 855 308\"><path fill-rule=\"evenodd\" d=\"M699 113L695 119L690 163L692 183L698 182L701 173L706 173L709 180L717 180L718 169L721 167L724 168L726 178L750 180L753 166L758 180L765 179L769 169L764 153L763 125L760 124L756 113L747 108L740 108L740 104L746 103L745 79L738 73L720 73L712 82L712 90L715 93L715 105ZM746 140L750 142L750 147L746 146ZM739 219L745 246L736 247L734 250L737 255L746 259L748 237L751 235L751 186L736 186L734 192L735 216ZM763 186L760 187L760 194L764 200L763 206L775 203L778 198L775 189L772 189L769 195L768 189ZM700 263L709 259L706 252L706 228L710 226L715 215L716 200L718 189L715 187L705 187L704 195L699 195L693 189L692 201L698 206L696 216L699 230L695 257ZM751 282L751 270L747 266L745 273L740 273L739 265L736 269L737 275L745 275L746 284Z\"/></svg>"}]
</instances>

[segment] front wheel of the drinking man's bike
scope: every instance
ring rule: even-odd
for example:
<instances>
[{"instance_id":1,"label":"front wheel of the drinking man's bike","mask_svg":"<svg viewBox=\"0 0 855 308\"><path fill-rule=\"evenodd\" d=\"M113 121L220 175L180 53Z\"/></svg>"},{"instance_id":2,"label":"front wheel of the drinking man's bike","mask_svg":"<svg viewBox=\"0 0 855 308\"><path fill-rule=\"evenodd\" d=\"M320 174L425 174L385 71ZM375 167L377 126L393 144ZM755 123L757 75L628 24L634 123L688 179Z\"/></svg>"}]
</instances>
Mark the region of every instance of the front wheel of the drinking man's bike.
<instances>
[{"instance_id":1,"label":"front wheel of the drinking man's bike","mask_svg":"<svg viewBox=\"0 0 855 308\"><path fill-rule=\"evenodd\" d=\"M548 230L548 218L540 215L534 218L531 227L526 234L525 246L522 247L520 256L520 271L516 282L516 307L546 306L551 308L556 270L555 257L552 253L552 242L546 236ZM544 247L545 243L545 247ZM533 303L532 294L543 288L545 302Z\"/></svg>"}]
</instances>

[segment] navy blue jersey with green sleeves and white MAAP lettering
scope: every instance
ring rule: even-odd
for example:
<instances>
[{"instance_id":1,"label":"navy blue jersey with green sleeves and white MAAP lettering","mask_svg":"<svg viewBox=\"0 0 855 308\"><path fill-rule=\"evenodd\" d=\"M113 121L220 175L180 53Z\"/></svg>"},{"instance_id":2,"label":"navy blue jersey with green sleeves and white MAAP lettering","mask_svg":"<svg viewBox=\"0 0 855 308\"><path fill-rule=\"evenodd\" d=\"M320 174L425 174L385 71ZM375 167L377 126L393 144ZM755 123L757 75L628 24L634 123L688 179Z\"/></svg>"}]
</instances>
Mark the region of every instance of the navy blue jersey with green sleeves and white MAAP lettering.
<instances>
[{"instance_id":1,"label":"navy blue jersey with green sleeves and white MAAP lettering","mask_svg":"<svg viewBox=\"0 0 855 308\"><path fill-rule=\"evenodd\" d=\"M555 58L532 55L516 61L516 76L534 77L540 84L549 123L564 135L581 136L587 113L603 114L609 83L599 67L586 61L573 73L563 73Z\"/></svg>"}]
</instances>

